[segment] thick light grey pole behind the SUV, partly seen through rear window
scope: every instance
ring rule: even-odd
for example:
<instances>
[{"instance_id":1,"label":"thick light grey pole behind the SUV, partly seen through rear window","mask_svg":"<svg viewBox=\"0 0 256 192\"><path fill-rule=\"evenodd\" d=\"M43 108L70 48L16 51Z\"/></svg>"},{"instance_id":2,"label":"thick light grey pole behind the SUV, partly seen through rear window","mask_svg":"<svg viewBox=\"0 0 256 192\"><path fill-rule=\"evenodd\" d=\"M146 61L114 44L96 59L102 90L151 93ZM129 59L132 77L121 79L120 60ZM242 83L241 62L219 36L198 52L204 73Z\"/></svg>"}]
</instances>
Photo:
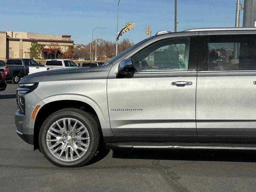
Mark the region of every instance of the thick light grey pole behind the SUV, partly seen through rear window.
<instances>
[{"instance_id":1,"label":"thick light grey pole behind the SUV, partly seen through rear window","mask_svg":"<svg viewBox=\"0 0 256 192\"><path fill-rule=\"evenodd\" d=\"M237 0L236 2L236 20L235 20L235 27L239 27L239 23L240 23L240 11L243 10L243 6L240 2L240 0ZM231 60L232 63L238 63L239 59L238 59L238 54L239 54L239 44L238 43L234 43L234 55L233 55L233 59Z\"/></svg>"}]
</instances>

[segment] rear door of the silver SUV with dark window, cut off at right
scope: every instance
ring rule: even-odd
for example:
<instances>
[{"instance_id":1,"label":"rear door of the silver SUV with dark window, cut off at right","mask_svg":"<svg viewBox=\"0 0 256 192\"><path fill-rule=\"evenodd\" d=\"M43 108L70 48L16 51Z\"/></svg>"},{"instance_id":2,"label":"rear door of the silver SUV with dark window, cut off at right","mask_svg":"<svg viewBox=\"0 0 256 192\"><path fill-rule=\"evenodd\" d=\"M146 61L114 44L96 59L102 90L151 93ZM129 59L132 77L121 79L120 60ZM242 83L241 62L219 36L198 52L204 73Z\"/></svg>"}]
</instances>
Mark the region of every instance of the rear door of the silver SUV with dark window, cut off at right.
<instances>
[{"instance_id":1,"label":"rear door of the silver SUV with dark window, cut off at right","mask_svg":"<svg viewBox=\"0 0 256 192\"><path fill-rule=\"evenodd\" d=\"M196 89L198 137L256 137L256 36L206 36L203 44Z\"/></svg>"}]
</instances>

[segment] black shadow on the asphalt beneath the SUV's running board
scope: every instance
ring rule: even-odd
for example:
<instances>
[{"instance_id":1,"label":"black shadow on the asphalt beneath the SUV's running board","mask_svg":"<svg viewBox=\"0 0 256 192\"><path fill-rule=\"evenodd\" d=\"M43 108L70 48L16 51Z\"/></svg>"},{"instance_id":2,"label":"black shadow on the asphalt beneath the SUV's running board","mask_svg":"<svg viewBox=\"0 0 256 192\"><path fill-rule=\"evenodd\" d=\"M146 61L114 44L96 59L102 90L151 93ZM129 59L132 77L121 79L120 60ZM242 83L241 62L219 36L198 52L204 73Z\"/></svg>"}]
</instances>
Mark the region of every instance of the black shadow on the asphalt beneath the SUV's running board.
<instances>
[{"instance_id":1,"label":"black shadow on the asphalt beneath the SUV's running board","mask_svg":"<svg viewBox=\"0 0 256 192\"><path fill-rule=\"evenodd\" d=\"M256 162L256 152L237 150L113 150L113 158Z\"/></svg>"}]
</instances>

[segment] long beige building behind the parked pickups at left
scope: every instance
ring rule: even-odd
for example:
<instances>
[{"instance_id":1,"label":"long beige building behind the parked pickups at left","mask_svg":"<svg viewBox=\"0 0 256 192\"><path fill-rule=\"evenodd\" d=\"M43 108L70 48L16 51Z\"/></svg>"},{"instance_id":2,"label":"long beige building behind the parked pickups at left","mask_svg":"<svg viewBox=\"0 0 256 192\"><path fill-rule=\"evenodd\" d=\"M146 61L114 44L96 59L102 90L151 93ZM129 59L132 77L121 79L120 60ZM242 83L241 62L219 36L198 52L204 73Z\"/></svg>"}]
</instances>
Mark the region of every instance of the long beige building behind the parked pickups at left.
<instances>
[{"instance_id":1,"label":"long beige building behind the parked pickups at left","mask_svg":"<svg viewBox=\"0 0 256 192\"><path fill-rule=\"evenodd\" d=\"M0 32L0 60L8 58L30 58L31 42L44 45L44 59L53 58L48 54L49 45L58 43L62 52L73 46L71 35L52 35L31 32Z\"/></svg>"}]
</instances>

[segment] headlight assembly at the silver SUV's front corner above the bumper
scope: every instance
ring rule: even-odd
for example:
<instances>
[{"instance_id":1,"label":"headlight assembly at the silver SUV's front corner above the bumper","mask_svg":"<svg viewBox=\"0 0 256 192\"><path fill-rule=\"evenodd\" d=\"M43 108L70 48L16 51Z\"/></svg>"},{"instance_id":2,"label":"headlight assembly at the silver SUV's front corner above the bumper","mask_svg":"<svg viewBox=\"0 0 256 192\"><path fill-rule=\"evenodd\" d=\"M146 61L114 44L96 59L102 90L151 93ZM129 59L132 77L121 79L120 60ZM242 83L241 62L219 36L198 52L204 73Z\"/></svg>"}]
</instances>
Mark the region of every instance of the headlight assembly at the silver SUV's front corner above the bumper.
<instances>
[{"instance_id":1,"label":"headlight assembly at the silver SUV's front corner above the bumper","mask_svg":"<svg viewBox=\"0 0 256 192\"><path fill-rule=\"evenodd\" d=\"M20 112L25 114L25 98L24 95L36 89L38 83L19 84L16 90L16 102Z\"/></svg>"}]
</instances>

